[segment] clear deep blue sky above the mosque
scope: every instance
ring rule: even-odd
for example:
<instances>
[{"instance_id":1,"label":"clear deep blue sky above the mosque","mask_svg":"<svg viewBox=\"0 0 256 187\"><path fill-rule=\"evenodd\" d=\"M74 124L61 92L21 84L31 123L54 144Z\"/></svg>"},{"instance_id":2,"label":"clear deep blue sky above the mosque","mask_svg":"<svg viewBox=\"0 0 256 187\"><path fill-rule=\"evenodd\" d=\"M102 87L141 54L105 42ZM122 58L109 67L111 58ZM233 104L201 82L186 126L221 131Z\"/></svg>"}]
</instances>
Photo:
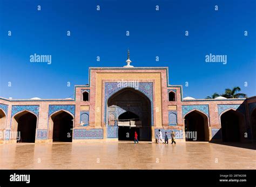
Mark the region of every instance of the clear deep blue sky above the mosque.
<instances>
[{"instance_id":1,"label":"clear deep blue sky above the mosque","mask_svg":"<svg viewBox=\"0 0 256 187\"><path fill-rule=\"evenodd\" d=\"M184 97L234 86L255 96L255 6L254 0L0 0L0 97L67 98L75 84L88 83L89 67L124 66L127 48L135 67L169 67L170 84L183 85ZM52 63L31 63L35 53L52 55ZM210 53L227 55L227 64L206 63Z\"/></svg>"}]
</instances>

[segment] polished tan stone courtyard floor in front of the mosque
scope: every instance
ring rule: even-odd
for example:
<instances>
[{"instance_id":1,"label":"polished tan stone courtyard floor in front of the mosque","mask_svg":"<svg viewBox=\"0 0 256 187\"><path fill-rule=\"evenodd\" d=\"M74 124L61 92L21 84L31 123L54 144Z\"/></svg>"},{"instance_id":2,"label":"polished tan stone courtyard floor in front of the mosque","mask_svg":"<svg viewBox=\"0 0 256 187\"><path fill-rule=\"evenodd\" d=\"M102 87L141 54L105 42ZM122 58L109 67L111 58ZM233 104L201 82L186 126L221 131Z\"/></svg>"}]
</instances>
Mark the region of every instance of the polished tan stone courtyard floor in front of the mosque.
<instances>
[{"instance_id":1,"label":"polished tan stone courtyard floor in front of the mosque","mask_svg":"<svg viewBox=\"0 0 256 187\"><path fill-rule=\"evenodd\" d=\"M17 143L0 145L0 169L256 169L255 145L241 147L206 142Z\"/></svg>"}]
</instances>

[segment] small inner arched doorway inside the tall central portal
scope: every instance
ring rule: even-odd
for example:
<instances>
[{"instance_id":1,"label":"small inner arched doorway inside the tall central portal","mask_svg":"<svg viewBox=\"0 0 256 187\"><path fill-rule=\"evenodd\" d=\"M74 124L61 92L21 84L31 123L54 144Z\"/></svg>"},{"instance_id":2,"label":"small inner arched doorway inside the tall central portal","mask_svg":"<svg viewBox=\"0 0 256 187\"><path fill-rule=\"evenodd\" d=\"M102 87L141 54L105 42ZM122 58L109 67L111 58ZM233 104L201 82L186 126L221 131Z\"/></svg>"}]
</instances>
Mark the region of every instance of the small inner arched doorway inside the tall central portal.
<instances>
[{"instance_id":1,"label":"small inner arched doorway inside the tall central portal","mask_svg":"<svg viewBox=\"0 0 256 187\"><path fill-rule=\"evenodd\" d=\"M124 112L118 117L118 140L134 140L134 134L137 132L139 137L140 126L139 117L130 112Z\"/></svg>"}]
</instances>

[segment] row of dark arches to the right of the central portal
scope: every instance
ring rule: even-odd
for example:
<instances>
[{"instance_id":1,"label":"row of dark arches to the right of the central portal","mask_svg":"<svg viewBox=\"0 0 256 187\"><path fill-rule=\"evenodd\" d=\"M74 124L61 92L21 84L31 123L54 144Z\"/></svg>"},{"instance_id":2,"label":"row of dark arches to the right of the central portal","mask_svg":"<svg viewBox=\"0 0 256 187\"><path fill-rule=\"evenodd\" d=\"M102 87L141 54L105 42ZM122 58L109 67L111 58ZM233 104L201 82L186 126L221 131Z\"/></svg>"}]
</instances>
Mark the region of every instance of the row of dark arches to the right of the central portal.
<instances>
[{"instance_id":1,"label":"row of dark arches to the right of the central portal","mask_svg":"<svg viewBox=\"0 0 256 187\"><path fill-rule=\"evenodd\" d=\"M255 138L256 132L256 109L251 114L253 137ZM185 134L186 141L210 141L210 131L208 128L208 118L203 112L194 110L187 113L185 119ZM238 111L230 109L220 116L221 124L221 138L223 142L239 142L242 135L246 130L245 117ZM195 134L191 132L196 132Z\"/></svg>"}]
</instances>

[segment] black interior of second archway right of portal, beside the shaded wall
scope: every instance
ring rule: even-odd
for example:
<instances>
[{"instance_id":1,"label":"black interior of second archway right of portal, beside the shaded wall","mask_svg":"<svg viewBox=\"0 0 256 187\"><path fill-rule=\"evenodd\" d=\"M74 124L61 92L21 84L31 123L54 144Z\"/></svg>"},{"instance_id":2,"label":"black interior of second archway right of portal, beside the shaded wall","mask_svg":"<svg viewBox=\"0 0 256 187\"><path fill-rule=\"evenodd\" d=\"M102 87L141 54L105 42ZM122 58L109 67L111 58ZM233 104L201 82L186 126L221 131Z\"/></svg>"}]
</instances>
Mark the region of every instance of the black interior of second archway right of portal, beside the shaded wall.
<instances>
[{"instance_id":1,"label":"black interior of second archway right of portal, beside the shaded wall","mask_svg":"<svg viewBox=\"0 0 256 187\"><path fill-rule=\"evenodd\" d=\"M227 111L220 117L221 134L224 142L239 141L239 116L233 111Z\"/></svg>"}]
</instances>

